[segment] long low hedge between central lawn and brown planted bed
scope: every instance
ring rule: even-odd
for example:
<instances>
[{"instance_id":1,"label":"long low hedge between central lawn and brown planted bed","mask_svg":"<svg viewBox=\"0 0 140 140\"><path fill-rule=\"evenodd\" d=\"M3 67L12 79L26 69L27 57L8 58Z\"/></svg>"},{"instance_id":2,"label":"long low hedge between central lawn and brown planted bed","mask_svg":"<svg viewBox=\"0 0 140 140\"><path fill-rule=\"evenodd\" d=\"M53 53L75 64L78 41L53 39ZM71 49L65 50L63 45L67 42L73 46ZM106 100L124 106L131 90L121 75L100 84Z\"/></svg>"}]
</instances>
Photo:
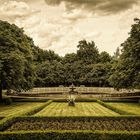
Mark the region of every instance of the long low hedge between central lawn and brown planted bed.
<instances>
[{"instance_id":1,"label":"long low hedge between central lawn and brown planted bed","mask_svg":"<svg viewBox=\"0 0 140 140\"><path fill-rule=\"evenodd\" d=\"M112 121L112 120L121 120L121 119L126 119L126 120L134 120L134 119L138 119L140 120L140 116L88 116L88 117L81 117L81 116L72 116L72 117L36 117L36 116L24 116L24 117L11 117L9 119L5 118L2 121L0 121L0 131L5 131L7 128L9 128L12 124L16 123L16 122L23 122L23 121L48 121L48 122L87 122L87 121L94 121L94 120L98 120L98 121L104 121L104 120L108 120L108 121Z\"/></svg>"}]
</instances>

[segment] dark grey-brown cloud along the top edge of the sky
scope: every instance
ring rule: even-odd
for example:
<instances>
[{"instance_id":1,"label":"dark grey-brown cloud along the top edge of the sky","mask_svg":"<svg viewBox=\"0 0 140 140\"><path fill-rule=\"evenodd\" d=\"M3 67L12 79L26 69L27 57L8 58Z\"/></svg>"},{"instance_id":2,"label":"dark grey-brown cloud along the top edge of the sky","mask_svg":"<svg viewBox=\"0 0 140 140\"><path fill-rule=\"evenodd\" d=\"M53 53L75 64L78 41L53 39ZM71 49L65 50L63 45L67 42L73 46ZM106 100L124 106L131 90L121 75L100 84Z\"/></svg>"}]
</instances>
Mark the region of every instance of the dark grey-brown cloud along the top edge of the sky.
<instances>
[{"instance_id":1,"label":"dark grey-brown cloud along the top edge of the sky","mask_svg":"<svg viewBox=\"0 0 140 140\"><path fill-rule=\"evenodd\" d=\"M138 4L139 0L45 0L48 5L59 5L64 2L67 10L83 8L103 14L118 13Z\"/></svg>"}]
</instances>

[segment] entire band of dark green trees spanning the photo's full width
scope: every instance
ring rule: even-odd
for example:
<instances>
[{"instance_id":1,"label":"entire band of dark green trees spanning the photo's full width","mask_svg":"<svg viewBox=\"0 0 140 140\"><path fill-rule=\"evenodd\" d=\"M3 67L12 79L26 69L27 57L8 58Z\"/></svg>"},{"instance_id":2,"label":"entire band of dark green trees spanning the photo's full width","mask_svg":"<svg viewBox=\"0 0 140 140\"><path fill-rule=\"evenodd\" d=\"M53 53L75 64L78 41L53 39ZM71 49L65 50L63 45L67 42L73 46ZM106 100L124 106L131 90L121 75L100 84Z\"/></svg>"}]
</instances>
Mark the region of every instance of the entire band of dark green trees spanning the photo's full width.
<instances>
[{"instance_id":1,"label":"entire band of dark green trees spanning the photo's full width","mask_svg":"<svg viewBox=\"0 0 140 140\"><path fill-rule=\"evenodd\" d=\"M34 45L22 28L0 21L0 100L2 89L85 85L140 88L140 20L114 56L99 53L93 41L79 41L77 52L60 57Z\"/></svg>"}]
</instances>

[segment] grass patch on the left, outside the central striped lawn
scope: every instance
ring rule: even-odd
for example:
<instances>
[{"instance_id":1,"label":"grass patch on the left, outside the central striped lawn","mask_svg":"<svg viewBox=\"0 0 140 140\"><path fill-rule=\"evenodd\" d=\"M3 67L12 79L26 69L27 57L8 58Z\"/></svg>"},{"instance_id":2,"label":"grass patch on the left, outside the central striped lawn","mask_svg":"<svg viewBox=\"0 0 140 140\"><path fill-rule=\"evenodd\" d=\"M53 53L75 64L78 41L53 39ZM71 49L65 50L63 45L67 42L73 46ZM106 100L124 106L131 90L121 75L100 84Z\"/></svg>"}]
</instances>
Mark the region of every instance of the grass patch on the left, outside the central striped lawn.
<instances>
[{"instance_id":1,"label":"grass patch on the left, outside the central striped lawn","mask_svg":"<svg viewBox=\"0 0 140 140\"><path fill-rule=\"evenodd\" d=\"M19 115L24 113L27 110L30 110L35 107L39 107L44 103L25 103L25 102L17 102L12 103L11 105L0 105L0 117L9 117L13 115Z\"/></svg>"}]
</instances>

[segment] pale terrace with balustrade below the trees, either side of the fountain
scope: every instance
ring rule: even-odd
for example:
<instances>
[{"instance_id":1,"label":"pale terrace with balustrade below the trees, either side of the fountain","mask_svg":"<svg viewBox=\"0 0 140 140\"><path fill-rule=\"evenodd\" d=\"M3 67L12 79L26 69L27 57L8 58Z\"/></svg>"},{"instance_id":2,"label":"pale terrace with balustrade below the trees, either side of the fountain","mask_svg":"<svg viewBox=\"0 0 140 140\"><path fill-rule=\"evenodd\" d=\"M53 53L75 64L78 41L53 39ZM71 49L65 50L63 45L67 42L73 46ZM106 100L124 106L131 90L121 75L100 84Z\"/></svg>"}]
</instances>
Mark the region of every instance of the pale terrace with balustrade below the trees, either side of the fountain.
<instances>
[{"instance_id":1,"label":"pale terrace with balustrade below the trees, either side of the fountain","mask_svg":"<svg viewBox=\"0 0 140 140\"><path fill-rule=\"evenodd\" d=\"M25 98L46 98L46 99L65 99L65 94L69 91L69 87L48 87L48 88L34 88L27 92L20 94L8 94L11 98L25 99ZM76 91L80 94L78 98L96 98L101 100L128 100L138 101L140 99L139 90L114 90L113 88L97 88L97 87L76 87Z\"/></svg>"}]
</instances>

